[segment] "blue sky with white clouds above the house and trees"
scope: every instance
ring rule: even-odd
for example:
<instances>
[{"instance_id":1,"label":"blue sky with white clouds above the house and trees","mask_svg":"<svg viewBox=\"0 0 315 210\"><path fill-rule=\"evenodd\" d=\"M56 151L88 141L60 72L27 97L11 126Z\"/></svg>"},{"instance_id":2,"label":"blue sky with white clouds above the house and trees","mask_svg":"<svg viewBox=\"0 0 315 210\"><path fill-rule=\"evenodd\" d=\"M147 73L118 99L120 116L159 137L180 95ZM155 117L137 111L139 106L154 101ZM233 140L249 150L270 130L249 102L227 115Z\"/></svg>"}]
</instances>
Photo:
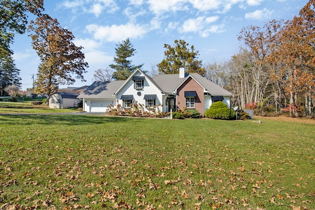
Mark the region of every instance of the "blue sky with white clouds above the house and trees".
<instances>
[{"instance_id":1,"label":"blue sky with white clouds above the house and trees","mask_svg":"<svg viewBox=\"0 0 315 210\"><path fill-rule=\"evenodd\" d=\"M89 63L86 82L91 85L94 71L113 63L115 47L129 38L136 49L132 64L152 66L164 58L164 44L184 39L199 51L203 64L223 62L238 52L237 35L243 27L262 27L273 19L298 16L308 0L44 0L45 13L57 18L63 28L83 46ZM32 87L39 58L31 38L16 35L12 45L15 64L21 70L22 89ZM66 87L65 85L60 88Z\"/></svg>"}]
</instances>

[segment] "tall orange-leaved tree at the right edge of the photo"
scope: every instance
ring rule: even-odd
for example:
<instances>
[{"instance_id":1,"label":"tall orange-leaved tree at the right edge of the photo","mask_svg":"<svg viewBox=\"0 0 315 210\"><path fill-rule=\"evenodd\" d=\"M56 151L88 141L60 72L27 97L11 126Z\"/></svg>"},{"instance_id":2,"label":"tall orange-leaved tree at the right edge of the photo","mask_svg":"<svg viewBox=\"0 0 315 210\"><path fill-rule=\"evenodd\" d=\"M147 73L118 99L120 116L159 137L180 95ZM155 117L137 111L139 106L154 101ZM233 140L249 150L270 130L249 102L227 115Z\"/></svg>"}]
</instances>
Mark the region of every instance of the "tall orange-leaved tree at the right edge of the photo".
<instances>
[{"instance_id":1,"label":"tall orange-leaved tree at the right edge of the photo","mask_svg":"<svg viewBox=\"0 0 315 210\"><path fill-rule=\"evenodd\" d=\"M278 68L271 78L284 83L288 98L286 110L295 117L302 108L305 116L312 116L315 104L314 7L315 0L310 0L299 16L285 23L269 59Z\"/></svg>"}]
</instances>

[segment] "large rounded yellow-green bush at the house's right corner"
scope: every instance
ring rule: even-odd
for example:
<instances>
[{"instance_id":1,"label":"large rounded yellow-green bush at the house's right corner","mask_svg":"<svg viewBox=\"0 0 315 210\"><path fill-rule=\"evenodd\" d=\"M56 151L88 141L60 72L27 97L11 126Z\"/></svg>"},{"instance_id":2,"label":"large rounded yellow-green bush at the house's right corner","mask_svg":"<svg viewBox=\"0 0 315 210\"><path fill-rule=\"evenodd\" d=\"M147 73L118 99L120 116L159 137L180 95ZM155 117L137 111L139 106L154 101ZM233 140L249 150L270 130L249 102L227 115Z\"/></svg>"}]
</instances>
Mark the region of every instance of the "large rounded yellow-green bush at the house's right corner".
<instances>
[{"instance_id":1,"label":"large rounded yellow-green bush at the house's right corner","mask_svg":"<svg viewBox=\"0 0 315 210\"><path fill-rule=\"evenodd\" d=\"M216 102L205 112L205 117L212 119L230 120L235 118L235 112L223 102Z\"/></svg>"}]
</instances>

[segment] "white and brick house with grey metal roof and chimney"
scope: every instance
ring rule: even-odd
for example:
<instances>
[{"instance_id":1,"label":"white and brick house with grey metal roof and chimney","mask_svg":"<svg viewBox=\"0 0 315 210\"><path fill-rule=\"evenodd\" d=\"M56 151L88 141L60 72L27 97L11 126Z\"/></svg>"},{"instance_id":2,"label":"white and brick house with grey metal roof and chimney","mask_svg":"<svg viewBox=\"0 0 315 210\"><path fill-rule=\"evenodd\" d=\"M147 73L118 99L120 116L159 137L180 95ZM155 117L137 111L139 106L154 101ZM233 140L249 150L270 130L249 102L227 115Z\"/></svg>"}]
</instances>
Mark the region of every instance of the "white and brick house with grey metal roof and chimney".
<instances>
[{"instance_id":1,"label":"white and brick house with grey metal roof and chimney","mask_svg":"<svg viewBox=\"0 0 315 210\"><path fill-rule=\"evenodd\" d=\"M96 81L77 98L83 100L83 110L106 112L108 106L130 108L141 104L147 111L169 112L171 109L196 109L202 115L210 105L222 101L230 107L232 94L197 73L158 74L151 78L135 70L126 80Z\"/></svg>"}]
</instances>

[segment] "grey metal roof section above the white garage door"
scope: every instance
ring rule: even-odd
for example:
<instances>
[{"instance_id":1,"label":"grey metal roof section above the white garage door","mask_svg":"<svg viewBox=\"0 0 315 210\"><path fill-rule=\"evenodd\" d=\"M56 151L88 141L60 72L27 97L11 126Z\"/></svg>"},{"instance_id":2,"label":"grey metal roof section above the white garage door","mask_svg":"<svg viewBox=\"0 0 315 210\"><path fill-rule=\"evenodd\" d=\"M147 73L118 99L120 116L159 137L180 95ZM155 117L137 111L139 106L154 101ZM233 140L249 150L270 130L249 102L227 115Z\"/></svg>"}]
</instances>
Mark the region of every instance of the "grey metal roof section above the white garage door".
<instances>
[{"instance_id":1,"label":"grey metal roof section above the white garage door","mask_svg":"<svg viewBox=\"0 0 315 210\"><path fill-rule=\"evenodd\" d=\"M77 98L113 98L114 93L125 83L126 80L96 81L85 89Z\"/></svg>"}]
</instances>

